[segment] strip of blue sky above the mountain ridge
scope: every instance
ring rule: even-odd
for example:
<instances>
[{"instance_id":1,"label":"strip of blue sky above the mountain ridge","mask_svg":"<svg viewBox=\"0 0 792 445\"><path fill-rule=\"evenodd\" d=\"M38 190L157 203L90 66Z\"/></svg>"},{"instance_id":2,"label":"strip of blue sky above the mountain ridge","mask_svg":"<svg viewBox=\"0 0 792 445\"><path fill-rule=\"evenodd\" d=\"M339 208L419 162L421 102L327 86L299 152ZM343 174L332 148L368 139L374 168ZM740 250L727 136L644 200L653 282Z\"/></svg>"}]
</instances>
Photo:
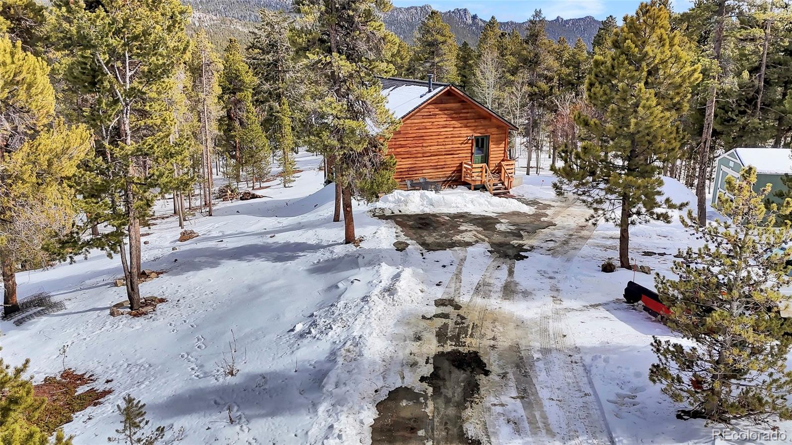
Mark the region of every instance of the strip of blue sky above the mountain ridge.
<instances>
[{"instance_id":1,"label":"strip of blue sky above the mountain ridge","mask_svg":"<svg viewBox=\"0 0 792 445\"><path fill-rule=\"evenodd\" d=\"M575 18L594 16L604 19L615 15L621 21L626 13L634 13L640 0L391 0L394 6L432 5L436 10L467 8L484 20L490 16L500 21L525 21L536 9L542 10L545 17ZM691 0L674 0L674 10L687 10Z\"/></svg>"}]
</instances>

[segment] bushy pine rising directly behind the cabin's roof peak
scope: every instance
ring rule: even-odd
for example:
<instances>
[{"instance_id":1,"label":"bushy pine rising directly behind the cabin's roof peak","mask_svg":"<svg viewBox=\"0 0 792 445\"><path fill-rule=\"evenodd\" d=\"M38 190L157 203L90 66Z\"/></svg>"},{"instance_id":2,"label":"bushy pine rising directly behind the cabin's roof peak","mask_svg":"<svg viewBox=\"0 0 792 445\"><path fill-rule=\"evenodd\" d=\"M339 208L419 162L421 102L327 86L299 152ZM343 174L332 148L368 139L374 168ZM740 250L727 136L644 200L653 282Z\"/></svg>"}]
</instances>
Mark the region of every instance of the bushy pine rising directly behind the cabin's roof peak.
<instances>
[{"instance_id":1,"label":"bushy pine rising directly behind the cabin's roof peak","mask_svg":"<svg viewBox=\"0 0 792 445\"><path fill-rule=\"evenodd\" d=\"M459 48L451 27L443 21L440 12L432 10L415 32L414 56L418 77L434 74L437 82L458 83L457 51Z\"/></svg>"}]
</instances>

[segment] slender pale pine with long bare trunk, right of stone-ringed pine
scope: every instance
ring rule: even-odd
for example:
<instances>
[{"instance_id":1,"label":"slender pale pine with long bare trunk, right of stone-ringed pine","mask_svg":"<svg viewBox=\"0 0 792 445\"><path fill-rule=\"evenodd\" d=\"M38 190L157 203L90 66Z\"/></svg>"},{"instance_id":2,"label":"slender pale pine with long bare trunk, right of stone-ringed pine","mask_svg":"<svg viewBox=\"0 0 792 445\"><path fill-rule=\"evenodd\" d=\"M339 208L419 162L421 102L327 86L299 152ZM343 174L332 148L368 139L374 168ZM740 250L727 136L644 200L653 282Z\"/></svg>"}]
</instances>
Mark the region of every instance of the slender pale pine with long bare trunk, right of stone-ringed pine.
<instances>
[{"instance_id":1,"label":"slender pale pine with long bare trunk, right of stone-ringed pine","mask_svg":"<svg viewBox=\"0 0 792 445\"><path fill-rule=\"evenodd\" d=\"M215 138L218 134L220 86L218 78L222 64L206 32L201 30L193 40L188 70L192 77L192 101L197 110L199 131L196 138L201 146L200 172L204 178L204 202L208 204L208 215L212 215L211 160L215 156Z\"/></svg>"}]
</instances>

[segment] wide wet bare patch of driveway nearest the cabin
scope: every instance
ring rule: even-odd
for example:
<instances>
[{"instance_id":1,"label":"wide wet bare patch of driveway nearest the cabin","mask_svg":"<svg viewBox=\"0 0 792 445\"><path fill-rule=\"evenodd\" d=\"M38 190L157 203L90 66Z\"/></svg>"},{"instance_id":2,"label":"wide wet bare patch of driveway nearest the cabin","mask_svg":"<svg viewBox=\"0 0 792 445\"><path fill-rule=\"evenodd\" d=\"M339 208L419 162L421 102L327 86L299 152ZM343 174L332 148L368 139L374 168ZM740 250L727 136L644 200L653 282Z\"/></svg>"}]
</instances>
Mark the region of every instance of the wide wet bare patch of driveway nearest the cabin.
<instances>
[{"instance_id":1,"label":"wide wet bare patch of driveway nearest the cabin","mask_svg":"<svg viewBox=\"0 0 792 445\"><path fill-rule=\"evenodd\" d=\"M537 207L533 204L534 207ZM393 221L409 239L429 251L470 247L480 242L489 243L492 253L512 260L523 260L532 249L527 237L538 230L554 226L546 220L547 214L537 210L527 214L510 211L497 215L471 213L419 213L377 215ZM394 247L397 247L394 244Z\"/></svg>"}]
</instances>

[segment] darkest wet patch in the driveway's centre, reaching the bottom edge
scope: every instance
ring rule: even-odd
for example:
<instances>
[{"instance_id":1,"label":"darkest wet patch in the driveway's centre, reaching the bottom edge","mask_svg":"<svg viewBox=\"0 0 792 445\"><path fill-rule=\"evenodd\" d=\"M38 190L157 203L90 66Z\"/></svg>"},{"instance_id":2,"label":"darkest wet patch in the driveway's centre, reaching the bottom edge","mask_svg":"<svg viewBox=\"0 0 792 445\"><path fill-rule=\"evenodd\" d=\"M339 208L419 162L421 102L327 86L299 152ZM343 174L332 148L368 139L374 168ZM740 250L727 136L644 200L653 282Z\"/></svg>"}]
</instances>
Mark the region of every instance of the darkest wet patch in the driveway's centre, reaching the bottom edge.
<instances>
[{"instance_id":1,"label":"darkest wet patch in the driveway's centre, reaching the bottom edge","mask_svg":"<svg viewBox=\"0 0 792 445\"><path fill-rule=\"evenodd\" d=\"M481 443L465 435L463 413L474 403L480 386L478 375L489 375L478 352L438 352L432 360L432 374L421 382L432 387L432 435L435 443Z\"/></svg>"}]
</instances>

